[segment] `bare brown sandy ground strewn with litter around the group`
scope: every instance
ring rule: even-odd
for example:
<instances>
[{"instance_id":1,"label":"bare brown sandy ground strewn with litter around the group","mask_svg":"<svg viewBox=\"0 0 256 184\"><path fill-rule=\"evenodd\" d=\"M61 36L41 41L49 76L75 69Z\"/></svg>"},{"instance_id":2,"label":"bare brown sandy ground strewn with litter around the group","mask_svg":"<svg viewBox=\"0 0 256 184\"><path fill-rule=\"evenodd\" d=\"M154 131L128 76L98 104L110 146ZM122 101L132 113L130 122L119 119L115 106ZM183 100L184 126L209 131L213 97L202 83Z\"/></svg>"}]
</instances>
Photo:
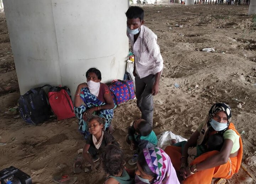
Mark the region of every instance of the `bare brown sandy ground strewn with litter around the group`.
<instances>
[{"instance_id":1,"label":"bare brown sandy ground strewn with litter around the group","mask_svg":"<svg viewBox=\"0 0 256 184\"><path fill-rule=\"evenodd\" d=\"M232 108L236 128L242 135L244 157L256 155L256 31L248 6L145 5L145 25L158 35L164 71L154 99L154 131L171 130L185 138L196 130L215 102ZM183 27L175 27L175 25ZM217 52L201 51L214 48ZM40 126L25 124L4 114L19 97L14 58L5 15L0 13L0 169L11 165L31 175L33 183L53 183L56 173L77 176L76 183L102 183L104 173L73 174L72 162L84 140L75 118ZM176 88L175 84L179 87ZM198 88L196 88L198 85ZM241 103L242 107L237 106ZM114 110L114 137L126 161L132 155L124 142L129 124L140 117L135 101ZM128 120L130 119L130 120ZM63 169L59 169L59 166ZM255 165L242 165L256 176ZM254 183L240 169L229 183Z\"/></svg>"}]
</instances>

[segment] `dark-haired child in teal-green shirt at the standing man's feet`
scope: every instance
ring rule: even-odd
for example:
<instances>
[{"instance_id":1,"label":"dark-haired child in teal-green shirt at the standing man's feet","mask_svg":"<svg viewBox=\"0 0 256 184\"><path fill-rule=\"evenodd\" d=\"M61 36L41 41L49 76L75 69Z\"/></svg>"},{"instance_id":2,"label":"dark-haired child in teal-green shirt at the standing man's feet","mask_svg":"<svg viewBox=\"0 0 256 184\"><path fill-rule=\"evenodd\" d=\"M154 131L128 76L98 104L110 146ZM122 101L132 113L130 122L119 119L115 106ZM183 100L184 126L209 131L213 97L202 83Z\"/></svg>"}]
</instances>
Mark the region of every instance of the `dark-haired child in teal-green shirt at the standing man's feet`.
<instances>
[{"instance_id":1,"label":"dark-haired child in teal-green shirt at the standing man's feet","mask_svg":"<svg viewBox=\"0 0 256 184\"><path fill-rule=\"evenodd\" d=\"M137 119L128 129L126 142L132 150L136 150L133 158L128 161L130 165L134 165L137 162L139 152L145 148L155 147L158 140L155 132L152 130L151 124L144 119Z\"/></svg>"}]
</instances>

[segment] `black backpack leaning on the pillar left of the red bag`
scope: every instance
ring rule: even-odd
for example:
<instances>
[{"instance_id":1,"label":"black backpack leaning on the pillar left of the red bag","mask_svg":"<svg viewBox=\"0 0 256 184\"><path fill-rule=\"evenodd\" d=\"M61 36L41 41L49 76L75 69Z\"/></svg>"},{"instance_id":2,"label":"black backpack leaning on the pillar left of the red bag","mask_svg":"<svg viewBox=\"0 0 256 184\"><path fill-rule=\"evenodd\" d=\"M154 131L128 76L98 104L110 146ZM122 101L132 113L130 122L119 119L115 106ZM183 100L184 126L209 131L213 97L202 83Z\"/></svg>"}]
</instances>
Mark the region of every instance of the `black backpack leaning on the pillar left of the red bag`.
<instances>
[{"instance_id":1,"label":"black backpack leaning on the pillar left of the red bag","mask_svg":"<svg viewBox=\"0 0 256 184\"><path fill-rule=\"evenodd\" d=\"M48 84L42 87L32 88L18 100L20 116L29 124L37 125L50 118L52 112L48 103L47 94L43 89L44 87L52 88Z\"/></svg>"}]
</instances>

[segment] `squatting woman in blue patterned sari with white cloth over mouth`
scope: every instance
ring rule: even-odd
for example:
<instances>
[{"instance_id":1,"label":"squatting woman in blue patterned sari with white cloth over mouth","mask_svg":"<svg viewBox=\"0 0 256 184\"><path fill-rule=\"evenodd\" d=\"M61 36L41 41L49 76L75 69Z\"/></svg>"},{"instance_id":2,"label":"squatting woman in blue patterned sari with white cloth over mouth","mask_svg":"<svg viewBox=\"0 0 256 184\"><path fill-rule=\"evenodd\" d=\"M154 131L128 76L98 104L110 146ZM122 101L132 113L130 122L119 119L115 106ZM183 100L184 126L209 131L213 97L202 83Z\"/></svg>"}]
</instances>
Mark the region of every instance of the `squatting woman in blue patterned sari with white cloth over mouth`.
<instances>
[{"instance_id":1,"label":"squatting woman in blue patterned sari with white cloth over mouth","mask_svg":"<svg viewBox=\"0 0 256 184\"><path fill-rule=\"evenodd\" d=\"M74 111L79 119L79 130L85 135L90 134L87 119L92 115L98 115L106 119L105 130L113 133L111 126L113 118L114 101L106 84L101 83L101 72L96 68L90 68L86 74L87 83L79 84L74 98Z\"/></svg>"}]
</instances>

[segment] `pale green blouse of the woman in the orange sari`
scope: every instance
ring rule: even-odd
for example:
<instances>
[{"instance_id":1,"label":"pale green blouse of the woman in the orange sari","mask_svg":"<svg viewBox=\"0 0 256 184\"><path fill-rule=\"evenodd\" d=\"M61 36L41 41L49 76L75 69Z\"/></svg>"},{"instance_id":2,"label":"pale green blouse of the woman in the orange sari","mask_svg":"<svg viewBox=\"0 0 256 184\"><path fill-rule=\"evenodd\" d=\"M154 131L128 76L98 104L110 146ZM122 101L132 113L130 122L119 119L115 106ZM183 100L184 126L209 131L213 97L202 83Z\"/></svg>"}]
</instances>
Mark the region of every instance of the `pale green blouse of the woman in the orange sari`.
<instances>
[{"instance_id":1,"label":"pale green blouse of the woman in the orange sari","mask_svg":"<svg viewBox=\"0 0 256 184\"><path fill-rule=\"evenodd\" d=\"M200 133L202 128L203 128L203 125L204 123L201 123L199 125L199 127L197 128L197 131ZM228 129L224 132L223 134L223 139L230 139L231 141L233 141L233 147L232 147L232 150L231 150L231 153L230 154L233 154L235 153L236 151L239 150L240 148L240 143L239 143L239 138L240 136L238 134L236 134L236 132L232 129Z\"/></svg>"}]
</instances>

